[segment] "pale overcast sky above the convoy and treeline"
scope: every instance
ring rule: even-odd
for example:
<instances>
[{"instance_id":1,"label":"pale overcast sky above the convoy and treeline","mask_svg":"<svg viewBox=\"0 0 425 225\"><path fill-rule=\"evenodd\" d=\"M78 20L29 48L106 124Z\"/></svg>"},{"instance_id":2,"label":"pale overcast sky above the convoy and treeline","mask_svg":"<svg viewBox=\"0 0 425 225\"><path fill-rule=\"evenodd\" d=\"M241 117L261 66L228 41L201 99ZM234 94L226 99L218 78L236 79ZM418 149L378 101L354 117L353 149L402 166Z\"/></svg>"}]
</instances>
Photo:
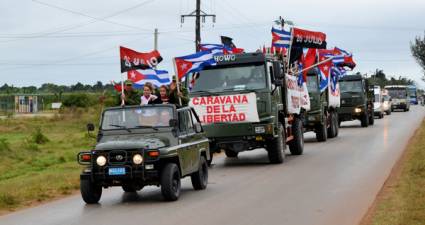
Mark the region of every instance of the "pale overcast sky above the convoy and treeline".
<instances>
[{"instance_id":1,"label":"pale overcast sky above the convoy and treeline","mask_svg":"<svg viewBox=\"0 0 425 225\"><path fill-rule=\"evenodd\" d=\"M423 71L409 43L425 30L423 0L283 1L201 0L202 10L217 15L202 27L203 43L220 35L255 51L270 45L270 29L279 16L297 27L327 34L328 48L353 52L355 72L383 69L389 76L420 81ZM1 0L0 85L43 83L93 84L119 81L119 46L151 51L159 29L160 69L171 58L194 52L196 0Z\"/></svg>"}]
</instances>

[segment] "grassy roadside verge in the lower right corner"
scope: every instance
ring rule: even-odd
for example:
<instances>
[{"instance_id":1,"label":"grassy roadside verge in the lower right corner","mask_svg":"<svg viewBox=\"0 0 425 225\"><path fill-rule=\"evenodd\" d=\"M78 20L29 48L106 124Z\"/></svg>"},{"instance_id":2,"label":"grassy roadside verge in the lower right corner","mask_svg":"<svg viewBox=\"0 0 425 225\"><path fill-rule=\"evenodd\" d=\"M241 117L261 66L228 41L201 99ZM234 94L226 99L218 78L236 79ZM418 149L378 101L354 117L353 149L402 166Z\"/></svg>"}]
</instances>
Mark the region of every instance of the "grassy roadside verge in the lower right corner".
<instances>
[{"instance_id":1,"label":"grassy roadside verge in the lower right corner","mask_svg":"<svg viewBox=\"0 0 425 225\"><path fill-rule=\"evenodd\" d=\"M425 221L425 120L410 142L400 174L384 187L370 224L415 225Z\"/></svg>"}]
</instances>

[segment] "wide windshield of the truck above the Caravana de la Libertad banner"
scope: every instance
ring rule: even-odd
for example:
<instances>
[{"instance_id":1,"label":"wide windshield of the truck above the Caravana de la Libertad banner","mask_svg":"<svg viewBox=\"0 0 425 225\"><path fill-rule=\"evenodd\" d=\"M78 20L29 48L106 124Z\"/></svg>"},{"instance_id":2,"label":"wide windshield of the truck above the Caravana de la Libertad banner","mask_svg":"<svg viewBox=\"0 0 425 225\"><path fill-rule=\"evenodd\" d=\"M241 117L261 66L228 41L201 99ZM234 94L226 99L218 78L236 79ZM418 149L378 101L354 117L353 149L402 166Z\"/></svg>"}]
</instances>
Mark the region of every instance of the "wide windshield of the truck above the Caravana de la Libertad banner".
<instances>
[{"instance_id":1,"label":"wide windshield of the truck above the Caravana de la Libertad banner","mask_svg":"<svg viewBox=\"0 0 425 225\"><path fill-rule=\"evenodd\" d=\"M192 81L192 78L189 79ZM264 63L211 67L201 71L191 92L258 90L266 88Z\"/></svg>"}]
</instances>

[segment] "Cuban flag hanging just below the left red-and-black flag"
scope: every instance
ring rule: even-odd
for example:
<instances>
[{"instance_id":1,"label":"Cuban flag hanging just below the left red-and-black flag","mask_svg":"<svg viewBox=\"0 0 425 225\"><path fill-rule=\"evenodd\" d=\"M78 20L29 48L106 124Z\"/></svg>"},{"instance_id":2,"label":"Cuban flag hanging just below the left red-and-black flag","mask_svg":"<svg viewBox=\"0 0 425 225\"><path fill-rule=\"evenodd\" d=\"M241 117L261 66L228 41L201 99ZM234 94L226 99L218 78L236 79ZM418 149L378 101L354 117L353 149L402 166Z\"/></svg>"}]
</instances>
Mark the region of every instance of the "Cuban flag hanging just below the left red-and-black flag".
<instances>
[{"instance_id":1,"label":"Cuban flag hanging just below the left red-and-black flag","mask_svg":"<svg viewBox=\"0 0 425 225\"><path fill-rule=\"evenodd\" d=\"M157 88L171 83L170 75L165 70L131 70L127 72L127 78L133 82L134 88L143 88L147 82L152 83Z\"/></svg>"}]
</instances>

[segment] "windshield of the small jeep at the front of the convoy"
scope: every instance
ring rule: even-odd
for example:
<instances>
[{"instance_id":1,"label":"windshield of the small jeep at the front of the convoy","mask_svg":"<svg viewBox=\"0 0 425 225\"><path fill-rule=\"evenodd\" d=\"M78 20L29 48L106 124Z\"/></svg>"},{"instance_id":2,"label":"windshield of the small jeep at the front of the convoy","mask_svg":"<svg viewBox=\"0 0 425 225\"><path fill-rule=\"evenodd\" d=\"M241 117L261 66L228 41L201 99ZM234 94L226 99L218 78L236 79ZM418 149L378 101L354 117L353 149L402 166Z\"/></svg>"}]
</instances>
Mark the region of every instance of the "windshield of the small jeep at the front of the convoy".
<instances>
[{"instance_id":1,"label":"windshield of the small jeep at the front of the convoy","mask_svg":"<svg viewBox=\"0 0 425 225\"><path fill-rule=\"evenodd\" d=\"M168 127L173 119L171 107L139 107L106 110L102 130Z\"/></svg>"}]
</instances>

